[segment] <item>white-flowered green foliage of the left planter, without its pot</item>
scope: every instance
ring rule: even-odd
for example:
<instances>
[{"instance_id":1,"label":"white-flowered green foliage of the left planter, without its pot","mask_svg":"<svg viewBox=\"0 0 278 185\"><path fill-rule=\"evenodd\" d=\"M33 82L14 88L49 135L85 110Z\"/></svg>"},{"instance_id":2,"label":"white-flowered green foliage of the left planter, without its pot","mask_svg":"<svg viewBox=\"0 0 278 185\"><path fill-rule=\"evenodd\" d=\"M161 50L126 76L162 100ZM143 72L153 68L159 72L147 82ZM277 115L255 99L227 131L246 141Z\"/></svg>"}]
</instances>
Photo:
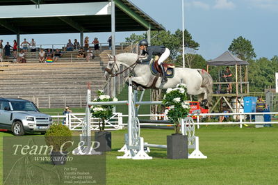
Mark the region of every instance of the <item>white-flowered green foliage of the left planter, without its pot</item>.
<instances>
[{"instance_id":1,"label":"white-flowered green foliage of the left planter, without its pot","mask_svg":"<svg viewBox=\"0 0 278 185\"><path fill-rule=\"evenodd\" d=\"M98 97L92 102L117 102L116 97L110 97L109 95L104 95L103 90L97 90ZM99 118L102 121L102 127L99 122L99 131L104 131L105 120L109 120L113 115L114 105L98 105L91 106L90 112L93 118Z\"/></svg>"}]
</instances>

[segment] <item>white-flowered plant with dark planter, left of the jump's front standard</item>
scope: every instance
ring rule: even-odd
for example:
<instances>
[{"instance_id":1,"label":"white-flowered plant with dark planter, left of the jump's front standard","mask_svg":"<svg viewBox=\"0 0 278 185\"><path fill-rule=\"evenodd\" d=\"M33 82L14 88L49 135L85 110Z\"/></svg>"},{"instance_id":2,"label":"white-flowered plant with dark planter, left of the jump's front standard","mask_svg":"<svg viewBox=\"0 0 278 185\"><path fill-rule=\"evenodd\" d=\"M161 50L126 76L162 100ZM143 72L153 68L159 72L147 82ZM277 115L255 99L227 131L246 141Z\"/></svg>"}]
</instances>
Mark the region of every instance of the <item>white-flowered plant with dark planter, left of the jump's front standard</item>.
<instances>
[{"instance_id":1,"label":"white-flowered plant with dark planter, left of the jump's front standard","mask_svg":"<svg viewBox=\"0 0 278 185\"><path fill-rule=\"evenodd\" d=\"M117 98L104 95L103 90L97 90L97 98L93 102L117 102ZM97 152L111 151L111 132L104 131L106 120L109 120L113 116L114 105L98 105L91 106L90 112L92 118L99 118L99 131L95 132L95 141L100 143L100 146L96 149Z\"/></svg>"}]
</instances>

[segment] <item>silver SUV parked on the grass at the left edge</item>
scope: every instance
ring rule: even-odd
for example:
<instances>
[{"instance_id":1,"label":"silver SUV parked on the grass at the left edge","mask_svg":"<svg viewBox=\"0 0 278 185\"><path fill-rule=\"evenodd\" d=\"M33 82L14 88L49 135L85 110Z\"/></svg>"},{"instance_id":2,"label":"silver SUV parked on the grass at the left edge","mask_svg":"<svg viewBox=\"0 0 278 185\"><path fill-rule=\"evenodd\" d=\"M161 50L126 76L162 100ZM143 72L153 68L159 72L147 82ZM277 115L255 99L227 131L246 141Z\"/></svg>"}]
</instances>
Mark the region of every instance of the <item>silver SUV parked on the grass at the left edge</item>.
<instances>
[{"instance_id":1,"label":"silver SUV parked on the grass at the left edge","mask_svg":"<svg viewBox=\"0 0 278 185\"><path fill-rule=\"evenodd\" d=\"M45 134L51 124L51 116L40 113L33 102L0 97L1 129L11 130L15 136L22 136L25 132Z\"/></svg>"}]
</instances>

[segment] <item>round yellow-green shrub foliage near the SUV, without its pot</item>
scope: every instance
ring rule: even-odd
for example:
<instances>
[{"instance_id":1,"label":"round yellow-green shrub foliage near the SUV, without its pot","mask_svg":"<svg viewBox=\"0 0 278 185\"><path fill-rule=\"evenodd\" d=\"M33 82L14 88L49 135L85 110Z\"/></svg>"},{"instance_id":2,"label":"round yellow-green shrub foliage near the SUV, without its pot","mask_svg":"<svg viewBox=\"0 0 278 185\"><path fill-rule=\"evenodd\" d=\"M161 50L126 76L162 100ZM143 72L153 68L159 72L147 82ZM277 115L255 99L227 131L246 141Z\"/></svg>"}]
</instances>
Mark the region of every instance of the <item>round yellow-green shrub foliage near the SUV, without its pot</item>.
<instances>
[{"instance_id":1,"label":"round yellow-green shrub foliage near the SUV, without its pot","mask_svg":"<svg viewBox=\"0 0 278 185\"><path fill-rule=\"evenodd\" d=\"M54 151L59 151L63 144L62 151L65 151L72 145L72 143L67 142L72 140L72 131L63 124L52 124L44 135L44 138L47 145L53 146Z\"/></svg>"}]
</instances>

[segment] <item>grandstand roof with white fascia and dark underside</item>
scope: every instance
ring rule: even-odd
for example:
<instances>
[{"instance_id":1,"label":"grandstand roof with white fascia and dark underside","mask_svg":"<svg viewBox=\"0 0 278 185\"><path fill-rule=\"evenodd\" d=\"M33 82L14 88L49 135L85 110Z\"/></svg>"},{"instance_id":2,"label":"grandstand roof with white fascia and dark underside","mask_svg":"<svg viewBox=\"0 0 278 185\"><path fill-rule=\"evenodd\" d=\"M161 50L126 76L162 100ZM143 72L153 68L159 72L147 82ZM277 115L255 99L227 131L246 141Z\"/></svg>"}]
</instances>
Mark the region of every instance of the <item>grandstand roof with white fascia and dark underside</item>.
<instances>
[{"instance_id":1,"label":"grandstand roof with white fascia and dark underside","mask_svg":"<svg viewBox=\"0 0 278 185\"><path fill-rule=\"evenodd\" d=\"M165 30L128 0L115 1L116 31ZM0 35L110 32L108 0L0 0Z\"/></svg>"}]
</instances>

